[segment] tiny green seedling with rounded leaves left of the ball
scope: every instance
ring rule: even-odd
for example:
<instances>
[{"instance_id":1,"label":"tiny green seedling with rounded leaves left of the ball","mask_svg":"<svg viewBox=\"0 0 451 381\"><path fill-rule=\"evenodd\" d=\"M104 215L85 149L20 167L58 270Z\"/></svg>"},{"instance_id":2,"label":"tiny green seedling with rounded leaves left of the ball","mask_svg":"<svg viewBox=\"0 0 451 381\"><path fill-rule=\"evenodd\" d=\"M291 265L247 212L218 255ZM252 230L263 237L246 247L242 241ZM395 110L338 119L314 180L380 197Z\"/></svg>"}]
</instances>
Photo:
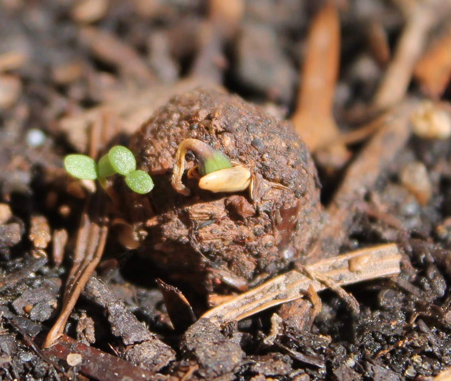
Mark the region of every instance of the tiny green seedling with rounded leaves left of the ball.
<instances>
[{"instance_id":1,"label":"tiny green seedling with rounded leaves left of the ball","mask_svg":"<svg viewBox=\"0 0 451 381\"><path fill-rule=\"evenodd\" d=\"M133 192L143 195L153 188L150 175L143 170L136 170L133 153L122 145L112 147L98 164L91 157L81 154L67 155L63 164L70 175L87 180L98 178L102 186L106 184L105 177L118 173L125 176L125 183Z\"/></svg>"}]
</instances>

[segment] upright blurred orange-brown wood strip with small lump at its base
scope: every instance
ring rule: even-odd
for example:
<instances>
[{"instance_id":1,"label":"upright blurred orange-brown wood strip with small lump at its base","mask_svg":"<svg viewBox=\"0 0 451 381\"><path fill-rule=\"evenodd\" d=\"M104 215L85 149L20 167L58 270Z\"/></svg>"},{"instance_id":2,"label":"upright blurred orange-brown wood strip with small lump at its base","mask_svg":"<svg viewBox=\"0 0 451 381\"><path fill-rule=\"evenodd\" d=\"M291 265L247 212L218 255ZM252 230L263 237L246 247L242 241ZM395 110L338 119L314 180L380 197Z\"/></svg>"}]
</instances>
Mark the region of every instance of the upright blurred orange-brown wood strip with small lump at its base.
<instances>
[{"instance_id":1,"label":"upright blurred orange-brown wood strip with small lump at its base","mask_svg":"<svg viewBox=\"0 0 451 381\"><path fill-rule=\"evenodd\" d=\"M340 56L340 24L332 2L328 2L315 16L309 30L307 55L303 64L298 101L291 121L311 152L324 140L339 134L332 114L335 84ZM341 144L323 149L322 163L340 167L349 158Z\"/></svg>"}]
</instances>

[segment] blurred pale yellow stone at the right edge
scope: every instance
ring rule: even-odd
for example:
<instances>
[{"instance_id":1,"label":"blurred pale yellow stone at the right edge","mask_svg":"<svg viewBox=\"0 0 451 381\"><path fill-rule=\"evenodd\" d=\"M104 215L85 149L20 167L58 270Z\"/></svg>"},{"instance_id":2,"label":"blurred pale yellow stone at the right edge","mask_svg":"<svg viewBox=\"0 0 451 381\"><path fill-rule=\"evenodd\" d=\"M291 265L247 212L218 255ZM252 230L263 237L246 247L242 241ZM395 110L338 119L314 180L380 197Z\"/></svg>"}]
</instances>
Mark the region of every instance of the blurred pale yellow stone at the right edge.
<instances>
[{"instance_id":1,"label":"blurred pale yellow stone at the right edge","mask_svg":"<svg viewBox=\"0 0 451 381\"><path fill-rule=\"evenodd\" d=\"M451 116L431 101L422 102L410 116L413 133L423 139L447 139L451 136Z\"/></svg>"}]
</instances>

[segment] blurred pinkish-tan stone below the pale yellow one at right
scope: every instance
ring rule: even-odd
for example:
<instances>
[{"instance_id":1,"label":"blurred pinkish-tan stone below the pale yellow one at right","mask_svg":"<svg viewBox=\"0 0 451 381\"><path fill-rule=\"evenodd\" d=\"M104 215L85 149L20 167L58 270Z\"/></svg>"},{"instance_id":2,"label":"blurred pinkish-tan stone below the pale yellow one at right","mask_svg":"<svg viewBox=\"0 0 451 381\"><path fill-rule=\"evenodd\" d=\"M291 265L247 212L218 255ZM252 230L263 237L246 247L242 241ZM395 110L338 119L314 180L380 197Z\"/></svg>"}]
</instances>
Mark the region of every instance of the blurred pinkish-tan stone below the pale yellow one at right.
<instances>
[{"instance_id":1,"label":"blurred pinkish-tan stone below the pale yellow one at right","mask_svg":"<svg viewBox=\"0 0 451 381\"><path fill-rule=\"evenodd\" d=\"M408 163L400 172L402 185L415 196L418 203L426 205L432 195L432 185L427 174L426 166L419 161Z\"/></svg>"}]
</instances>

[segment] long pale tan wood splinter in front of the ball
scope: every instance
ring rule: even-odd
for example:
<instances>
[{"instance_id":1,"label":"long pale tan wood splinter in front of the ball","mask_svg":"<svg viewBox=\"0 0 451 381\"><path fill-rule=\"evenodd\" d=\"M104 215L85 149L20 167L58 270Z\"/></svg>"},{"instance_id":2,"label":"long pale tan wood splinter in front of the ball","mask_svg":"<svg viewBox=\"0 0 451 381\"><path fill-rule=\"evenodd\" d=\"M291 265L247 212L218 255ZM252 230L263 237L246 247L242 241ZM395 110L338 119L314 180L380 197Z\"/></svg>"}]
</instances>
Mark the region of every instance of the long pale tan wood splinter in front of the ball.
<instances>
[{"instance_id":1,"label":"long pale tan wood splinter in front of the ball","mask_svg":"<svg viewBox=\"0 0 451 381\"><path fill-rule=\"evenodd\" d=\"M367 266L358 272L350 271L349 261L362 255L371 257ZM325 259L309 266L308 269L330 278L338 285L347 285L396 275L400 271L400 259L401 255L396 245L388 244ZM233 320L241 320L267 308L303 297L309 285L312 285L317 292L327 288L317 280L312 280L299 271L292 270L237 296L229 302L212 308L202 317L209 318L218 325Z\"/></svg>"}]
</instances>

